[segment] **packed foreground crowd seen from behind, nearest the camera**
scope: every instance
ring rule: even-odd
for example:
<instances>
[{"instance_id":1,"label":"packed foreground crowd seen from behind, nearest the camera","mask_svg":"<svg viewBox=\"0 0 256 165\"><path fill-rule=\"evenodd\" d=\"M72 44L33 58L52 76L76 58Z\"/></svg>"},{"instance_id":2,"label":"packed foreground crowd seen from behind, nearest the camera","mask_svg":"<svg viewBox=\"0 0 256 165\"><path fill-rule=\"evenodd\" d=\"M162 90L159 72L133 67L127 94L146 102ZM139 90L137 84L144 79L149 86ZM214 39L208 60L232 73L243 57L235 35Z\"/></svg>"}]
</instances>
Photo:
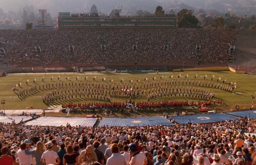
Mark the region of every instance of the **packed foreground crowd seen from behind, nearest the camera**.
<instances>
[{"instance_id":1,"label":"packed foreground crowd seen from behind, nearest the camera","mask_svg":"<svg viewBox=\"0 0 256 165\"><path fill-rule=\"evenodd\" d=\"M96 128L0 123L0 164L255 165L256 138L246 134L255 133L255 121Z\"/></svg>"}]
</instances>

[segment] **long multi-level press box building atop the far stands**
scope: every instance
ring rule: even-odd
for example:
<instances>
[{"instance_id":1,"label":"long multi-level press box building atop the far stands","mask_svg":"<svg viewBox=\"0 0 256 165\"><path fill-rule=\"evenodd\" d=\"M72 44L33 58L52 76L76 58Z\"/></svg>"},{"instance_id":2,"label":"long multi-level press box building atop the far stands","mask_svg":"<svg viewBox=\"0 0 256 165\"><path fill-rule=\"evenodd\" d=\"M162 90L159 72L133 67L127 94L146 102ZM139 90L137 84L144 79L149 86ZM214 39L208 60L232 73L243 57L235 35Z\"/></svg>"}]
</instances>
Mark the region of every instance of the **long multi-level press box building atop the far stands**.
<instances>
[{"instance_id":1,"label":"long multi-level press box building atop the far stands","mask_svg":"<svg viewBox=\"0 0 256 165\"><path fill-rule=\"evenodd\" d=\"M144 14L144 15L99 15L92 14L70 14L70 12L59 12L56 26L62 28L113 28L113 27L166 27L176 28L177 17L175 14Z\"/></svg>"}]
</instances>

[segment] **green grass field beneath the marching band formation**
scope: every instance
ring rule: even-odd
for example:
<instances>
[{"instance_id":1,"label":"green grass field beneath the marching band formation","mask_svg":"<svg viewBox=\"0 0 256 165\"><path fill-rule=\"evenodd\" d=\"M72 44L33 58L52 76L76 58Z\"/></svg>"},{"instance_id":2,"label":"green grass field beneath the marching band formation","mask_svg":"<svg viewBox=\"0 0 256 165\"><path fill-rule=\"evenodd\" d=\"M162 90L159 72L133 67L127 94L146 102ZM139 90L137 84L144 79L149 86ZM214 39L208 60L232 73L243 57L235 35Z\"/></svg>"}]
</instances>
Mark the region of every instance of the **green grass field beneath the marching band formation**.
<instances>
[{"instance_id":1,"label":"green grass field beneath the marching band formation","mask_svg":"<svg viewBox=\"0 0 256 165\"><path fill-rule=\"evenodd\" d=\"M138 86L139 86L139 90L140 90L140 83L142 84L143 87L143 83L144 83L144 77L148 78L148 83L149 81L152 82L152 77L156 77L156 80L154 80L153 82L156 81L156 85L157 85L157 81L159 81L159 85L161 86L161 80L160 80L160 75L162 75L162 80L163 80L163 85L164 85L164 80L169 80L169 75L173 75L173 77L171 78L171 82L172 79L177 79L177 83L176 86L178 85L178 88L180 87L178 84L178 75L181 74L180 77L180 85L181 88L183 90L183 86L186 87L191 86L191 88L193 89L193 85L192 85L192 80L195 80L194 76L195 74L197 74L196 80L197 80L197 86L194 83L195 89L197 88L203 88L203 90L210 90L210 91L214 91L215 92L215 99L216 102L218 100L222 100L224 102L223 105L216 105L218 112L220 111L228 111L229 109L235 108L235 105L239 105L240 108L243 107L251 107L252 104L252 98L251 95L256 93L256 77L255 76L250 76L250 75L243 75L243 74L234 74L233 72L230 71L185 71L185 72L160 72L159 74L157 73L138 73L138 72L133 72L133 73L106 73L106 74L99 74L99 73L92 73L92 72L87 72L85 74L63 74L63 73L52 73L52 74L9 74L5 77L0 77L0 98L4 98L5 101L5 105L4 108L5 110L17 110L17 109L26 109L26 107L29 106L33 106L34 109L47 109L48 107L59 107L59 105L61 105L62 103L67 103L67 102L73 102L73 103L88 103L88 102L106 102L100 99L94 99L91 98L91 96L89 95L89 98L87 97L87 95L85 95L85 98L83 97L83 95L81 96L81 98L79 97L79 94L77 93L77 98L73 97L73 99L69 99L69 100L62 100L59 99L57 101L54 102L49 102L49 104L44 104L41 95L44 95L44 93L46 93L49 90L54 90L57 88L59 89L63 89L63 92L65 93L64 87L65 87L65 81L66 81L66 76L69 77L68 81L74 81L74 86L73 88L75 88L75 81L76 81L76 76L79 76L78 80L80 81L84 81L84 86L85 86L85 80L84 77L87 76L87 86L88 86L88 82L90 81L90 87L92 87L92 81L93 81L93 77L96 76L95 81L94 81L94 86L95 83L100 82L100 87L101 87L101 83L102 83L102 77L106 78L103 82L103 87L105 88L105 84L107 83L107 88L109 88L109 79L113 79L113 82L111 82L111 91L112 91L112 86L113 83L115 83L115 89L116 89L116 83L118 83L118 89L120 89L120 79L124 79L123 83L129 85L129 79L132 80L131 86L133 86L133 83L135 83L135 88L136 88L136 80L137 78L140 80L140 82L138 82ZM188 82L189 79L191 79L191 85L189 85L189 83L185 83L185 75L188 74ZM60 75L60 81L64 81L64 87L62 87L62 85L60 85L59 87L59 82L58 82L58 75ZM204 75L207 75L207 77L204 80ZM214 75L215 77L213 77L213 88L211 87L211 76ZM42 77L44 76L44 82L42 82ZM52 88L52 81L51 81L51 76L53 76L53 88ZM26 88L29 88L29 86L34 85L33 83L33 79L36 78L36 86L37 86L37 90L33 91L31 93L28 92L28 94L26 94ZM220 90L217 89L217 78L221 78L221 80L219 81L219 84L222 84L222 79L226 79L226 82L224 83L224 85L228 85L228 82L236 82L236 88L234 89L234 91L231 92L227 92L225 90ZM182 85L182 79L184 79L184 84ZM29 80L28 85L26 84L26 80ZM201 82L201 86L199 86L199 80ZM207 87L202 86L202 82L207 81ZM147 84L147 81L145 84ZM208 82L210 81L210 87L208 87ZM17 90L14 93L12 88L14 87L15 84L21 83L20 87L17 87L17 90L23 90L23 88L25 88L25 95L21 96L18 98L17 95ZM44 89L42 87L42 83L48 83L50 82L51 86L49 88L46 88L46 86L44 86ZM58 83L58 86L56 87L56 82ZM60 82L61 83L61 82ZM123 87L123 83L122 83L122 87ZM214 83L216 83L216 89L214 88ZM38 85L41 85L41 90L39 90ZM81 82L81 91L82 91L82 82ZM167 82L166 82L167 85ZM223 85L223 84L222 84ZM72 86L72 84L71 84ZM78 81L77 81L77 86L78 86ZM153 85L155 86L155 84ZM168 86L168 90L169 90L169 86ZM176 89L175 87L175 83L174 83L174 89ZM68 83L67 83L67 88L69 87ZM147 86L146 86L147 87ZM71 87L69 87L71 88ZM148 88L147 88L148 89ZM171 90L172 90L172 84L171 84ZM160 90L161 91L161 90ZM71 92L71 89L70 89ZM78 92L78 90L77 90ZM186 92L186 90L185 90ZM82 92L81 92L82 93ZM192 92L191 92L192 93ZM110 94L111 96L111 102L115 101L115 102L124 102L125 100L128 100L128 96L113 96L112 93ZM133 98L135 99L135 102L141 102L141 101L148 101L147 99L148 96L148 90L147 90L147 94L146 95L142 95L142 96L134 96ZM68 98L68 97L67 97ZM71 98L71 97L70 97ZM99 97L100 98L100 97ZM150 100L151 102L158 102L161 100L189 100L192 101L194 100L195 102L198 101L198 98L192 98L192 94L191 97L179 97L179 95L177 94L176 97L174 97L174 93L171 96L167 97L167 92L166 92L166 97L154 97L154 99ZM201 99L200 100L205 100L205 99ZM213 100L212 100L213 101ZM214 107L211 106L210 109L213 109ZM3 105L1 104L1 110L3 110ZM179 111L182 111L182 109L177 109ZM156 113L160 114L163 113L163 111L166 110L160 110L160 111L147 111L144 110L142 113L142 115L148 115L148 116L153 116ZM175 111L175 107L172 110L169 110L168 113L172 114ZM188 110L188 111L193 111L196 112L196 109L192 109L192 110ZM84 112L85 114L89 112ZM78 112L78 115L84 115L84 113ZM56 114L52 114L52 115L57 115ZM114 112L115 114L115 112ZM116 116L120 116L119 114L115 114Z\"/></svg>"}]
</instances>

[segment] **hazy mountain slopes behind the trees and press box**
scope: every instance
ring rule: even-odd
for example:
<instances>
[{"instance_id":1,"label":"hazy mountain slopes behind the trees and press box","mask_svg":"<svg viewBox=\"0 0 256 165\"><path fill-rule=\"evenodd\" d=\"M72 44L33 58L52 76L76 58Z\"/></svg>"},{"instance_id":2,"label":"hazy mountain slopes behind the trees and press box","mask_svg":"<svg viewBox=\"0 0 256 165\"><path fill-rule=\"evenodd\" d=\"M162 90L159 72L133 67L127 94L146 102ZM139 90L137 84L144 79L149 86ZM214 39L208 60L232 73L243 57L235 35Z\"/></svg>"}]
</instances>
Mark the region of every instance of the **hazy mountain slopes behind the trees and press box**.
<instances>
[{"instance_id":1,"label":"hazy mountain slopes behind the trees and press box","mask_svg":"<svg viewBox=\"0 0 256 165\"><path fill-rule=\"evenodd\" d=\"M237 15L255 15L256 0L2 0L0 8L5 12L19 11L26 5L33 5L35 9L47 9L53 17L58 12L88 13L92 4L96 4L98 11L109 14L114 8L122 8L123 14L135 14L138 10L147 10L154 13L156 6L163 6L166 13L171 9L176 13L181 9L204 9L211 10L219 14L226 12ZM35 11L38 12L38 11Z\"/></svg>"}]
</instances>

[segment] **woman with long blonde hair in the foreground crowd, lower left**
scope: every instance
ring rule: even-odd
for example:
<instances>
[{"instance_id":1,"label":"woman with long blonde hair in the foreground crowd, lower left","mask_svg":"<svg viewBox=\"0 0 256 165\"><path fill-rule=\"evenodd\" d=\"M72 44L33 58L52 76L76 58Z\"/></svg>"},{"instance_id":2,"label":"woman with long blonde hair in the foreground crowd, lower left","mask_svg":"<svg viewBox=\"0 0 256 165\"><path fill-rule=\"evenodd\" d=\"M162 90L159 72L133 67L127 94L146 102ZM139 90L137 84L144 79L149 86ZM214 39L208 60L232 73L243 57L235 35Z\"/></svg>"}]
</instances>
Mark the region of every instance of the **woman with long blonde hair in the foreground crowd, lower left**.
<instances>
[{"instance_id":1,"label":"woman with long blonde hair in the foreground crowd, lower left","mask_svg":"<svg viewBox=\"0 0 256 165\"><path fill-rule=\"evenodd\" d=\"M41 141L38 141L36 143L36 148L32 148L28 144L27 147L29 148L29 150L25 151L26 155L34 155L36 159L36 165L45 165L40 161L42 154L46 151L46 147L44 146L44 144Z\"/></svg>"}]
</instances>

